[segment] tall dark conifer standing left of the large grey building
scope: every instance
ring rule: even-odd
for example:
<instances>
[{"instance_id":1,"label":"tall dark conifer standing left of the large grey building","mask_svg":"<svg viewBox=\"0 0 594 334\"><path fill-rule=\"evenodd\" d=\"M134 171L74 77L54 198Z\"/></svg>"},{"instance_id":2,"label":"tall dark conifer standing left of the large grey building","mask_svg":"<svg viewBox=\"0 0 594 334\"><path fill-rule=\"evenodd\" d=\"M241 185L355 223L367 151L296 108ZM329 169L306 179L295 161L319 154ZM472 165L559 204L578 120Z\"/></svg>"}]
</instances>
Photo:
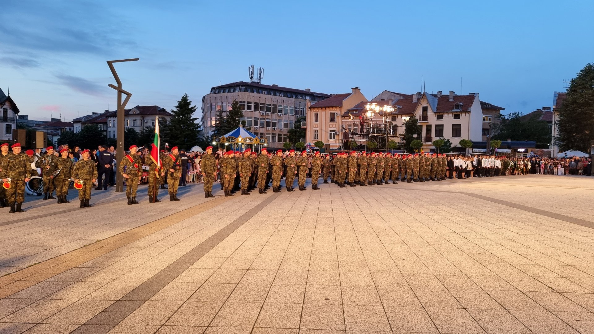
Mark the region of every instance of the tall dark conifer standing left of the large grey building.
<instances>
[{"instance_id":1,"label":"tall dark conifer standing left of the large grey building","mask_svg":"<svg viewBox=\"0 0 594 334\"><path fill-rule=\"evenodd\" d=\"M200 124L196 122L198 117L194 117L196 109L197 107L192 106L192 101L189 100L188 94L185 93L181 100L178 101L175 109L171 110L173 117L171 117L169 125L166 127L169 144L185 149L189 149L196 144L198 132L200 131Z\"/></svg>"}]
</instances>

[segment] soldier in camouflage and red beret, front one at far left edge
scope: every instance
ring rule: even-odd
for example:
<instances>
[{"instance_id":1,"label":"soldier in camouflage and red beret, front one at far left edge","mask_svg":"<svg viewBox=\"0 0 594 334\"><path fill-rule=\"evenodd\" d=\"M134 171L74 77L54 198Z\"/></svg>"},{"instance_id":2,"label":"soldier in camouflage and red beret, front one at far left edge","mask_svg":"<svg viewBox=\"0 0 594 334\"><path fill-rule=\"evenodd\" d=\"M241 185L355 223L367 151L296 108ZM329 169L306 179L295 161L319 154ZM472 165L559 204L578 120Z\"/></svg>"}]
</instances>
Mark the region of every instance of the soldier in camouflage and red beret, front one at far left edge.
<instances>
[{"instance_id":1,"label":"soldier in camouflage and red beret, front one at far left edge","mask_svg":"<svg viewBox=\"0 0 594 334\"><path fill-rule=\"evenodd\" d=\"M10 188L6 190L6 199L10 206L9 213L24 212L23 202L25 201L25 183L31 178L31 164L27 155L21 153L21 144L12 144L12 154L4 155L0 161L0 179L8 182Z\"/></svg>"}]
</instances>

